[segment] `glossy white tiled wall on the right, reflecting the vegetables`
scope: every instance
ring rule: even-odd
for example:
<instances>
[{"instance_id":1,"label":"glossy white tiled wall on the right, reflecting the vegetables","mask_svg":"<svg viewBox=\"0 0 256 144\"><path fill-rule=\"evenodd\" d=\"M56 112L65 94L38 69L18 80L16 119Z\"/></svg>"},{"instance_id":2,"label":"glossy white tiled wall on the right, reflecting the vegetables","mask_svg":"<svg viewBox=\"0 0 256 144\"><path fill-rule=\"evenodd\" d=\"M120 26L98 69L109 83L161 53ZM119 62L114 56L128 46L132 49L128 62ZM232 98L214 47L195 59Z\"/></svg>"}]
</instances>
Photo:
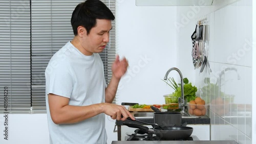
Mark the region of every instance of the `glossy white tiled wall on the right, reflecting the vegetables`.
<instances>
[{"instance_id":1,"label":"glossy white tiled wall on the right, reflecting the vegetables","mask_svg":"<svg viewBox=\"0 0 256 144\"><path fill-rule=\"evenodd\" d=\"M198 94L209 104L211 140L251 143L252 1L238 1L207 18L212 73L204 70L196 79Z\"/></svg>"}]
</instances>

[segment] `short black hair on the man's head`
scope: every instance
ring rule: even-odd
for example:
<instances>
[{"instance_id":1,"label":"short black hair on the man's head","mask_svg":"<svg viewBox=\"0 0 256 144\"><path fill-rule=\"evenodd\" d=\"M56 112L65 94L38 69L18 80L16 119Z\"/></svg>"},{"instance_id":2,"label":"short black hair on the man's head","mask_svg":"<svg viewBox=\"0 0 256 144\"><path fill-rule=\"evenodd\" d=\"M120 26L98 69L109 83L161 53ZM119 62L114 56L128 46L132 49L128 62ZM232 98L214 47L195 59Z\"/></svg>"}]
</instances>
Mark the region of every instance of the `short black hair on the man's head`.
<instances>
[{"instance_id":1,"label":"short black hair on the man's head","mask_svg":"<svg viewBox=\"0 0 256 144\"><path fill-rule=\"evenodd\" d=\"M91 29L96 26L96 19L114 20L115 16L100 0L87 0L78 4L71 17L74 35L77 35L79 26L84 27L88 35Z\"/></svg>"}]
</instances>

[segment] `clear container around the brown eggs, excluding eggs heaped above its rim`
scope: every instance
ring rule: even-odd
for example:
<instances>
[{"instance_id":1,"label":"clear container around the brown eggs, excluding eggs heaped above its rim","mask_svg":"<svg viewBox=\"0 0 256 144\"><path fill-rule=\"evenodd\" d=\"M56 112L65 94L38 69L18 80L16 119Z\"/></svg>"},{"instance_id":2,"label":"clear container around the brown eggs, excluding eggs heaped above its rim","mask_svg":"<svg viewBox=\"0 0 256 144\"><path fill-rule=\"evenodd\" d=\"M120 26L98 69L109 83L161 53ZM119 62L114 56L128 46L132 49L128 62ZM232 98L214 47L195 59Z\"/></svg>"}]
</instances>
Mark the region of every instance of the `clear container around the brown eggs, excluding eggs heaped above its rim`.
<instances>
[{"instance_id":1,"label":"clear container around the brown eggs, excluding eggs heaped above its rim","mask_svg":"<svg viewBox=\"0 0 256 144\"><path fill-rule=\"evenodd\" d=\"M208 114L208 105L196 105L187 103L187 108L190 116L204 116Z\"/></svg>"}]
</instances>

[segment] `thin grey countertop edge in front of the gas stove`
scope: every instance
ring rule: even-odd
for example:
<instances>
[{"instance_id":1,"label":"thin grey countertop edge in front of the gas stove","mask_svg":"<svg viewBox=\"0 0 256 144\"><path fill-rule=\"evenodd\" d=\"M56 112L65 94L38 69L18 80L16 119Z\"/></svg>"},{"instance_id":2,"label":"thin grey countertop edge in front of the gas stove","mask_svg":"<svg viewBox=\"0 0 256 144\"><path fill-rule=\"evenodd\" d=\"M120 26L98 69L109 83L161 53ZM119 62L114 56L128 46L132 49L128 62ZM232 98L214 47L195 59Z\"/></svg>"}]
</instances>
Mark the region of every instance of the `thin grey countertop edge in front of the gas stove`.
<instances>
[{"instance_id":1,"label":"thin grey countertop edge in front of the gas stove","mask_svg":"<svg viewBox=\"0 0 256 144\"><path fill-rule=\"evenodd\" d=\"M112 144L237 144L234 140L194 140L194 141L112 141Z\"/></svg>"}]
</instances>

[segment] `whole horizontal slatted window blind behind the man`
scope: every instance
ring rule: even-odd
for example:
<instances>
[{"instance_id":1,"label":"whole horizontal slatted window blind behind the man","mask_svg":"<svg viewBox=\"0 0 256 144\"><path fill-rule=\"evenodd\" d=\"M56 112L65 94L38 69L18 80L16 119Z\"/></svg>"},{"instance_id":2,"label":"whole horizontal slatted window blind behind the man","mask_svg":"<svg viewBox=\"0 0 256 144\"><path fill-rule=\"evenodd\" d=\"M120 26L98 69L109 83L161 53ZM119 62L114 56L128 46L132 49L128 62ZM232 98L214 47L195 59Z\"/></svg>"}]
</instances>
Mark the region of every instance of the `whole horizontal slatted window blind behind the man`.
<instances>
[{"instance_id":1,"label":"whole horizontal slatted window blind behind the man","mask_svg":"<svg viewBox=\"0 0 256 144\"><path fill-rule=\"evenodd\" d=\"M12 107L9 110L32 108L33 112L45 112L45 69L53 54L74 37L71 15L77 4L84 1L31 0L31 7L29 0L22 1L26 4L13 0L0 2L0 18L8 17L0 21L0 86L8 87L8 102ZM102 2L115 14L115 0ZM25 5L26 11L19 13L13 22L12 13L20 5ZM112 26L110 43L100 53L107 83L115 60L115 21ZM1 111L4 103L0 99Z\"/></svg>"}]
</instances>

